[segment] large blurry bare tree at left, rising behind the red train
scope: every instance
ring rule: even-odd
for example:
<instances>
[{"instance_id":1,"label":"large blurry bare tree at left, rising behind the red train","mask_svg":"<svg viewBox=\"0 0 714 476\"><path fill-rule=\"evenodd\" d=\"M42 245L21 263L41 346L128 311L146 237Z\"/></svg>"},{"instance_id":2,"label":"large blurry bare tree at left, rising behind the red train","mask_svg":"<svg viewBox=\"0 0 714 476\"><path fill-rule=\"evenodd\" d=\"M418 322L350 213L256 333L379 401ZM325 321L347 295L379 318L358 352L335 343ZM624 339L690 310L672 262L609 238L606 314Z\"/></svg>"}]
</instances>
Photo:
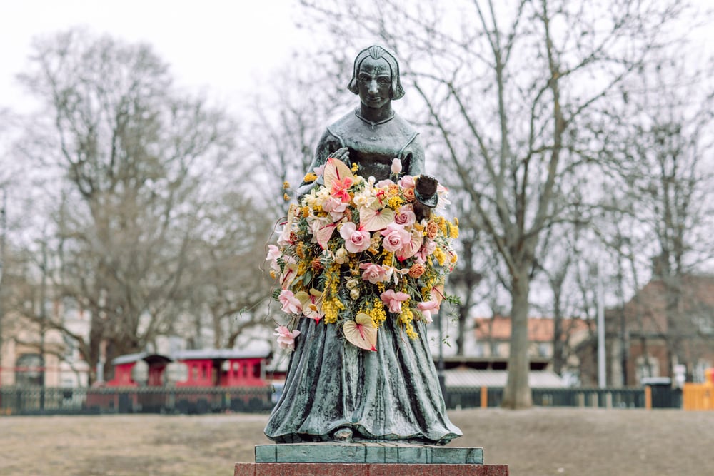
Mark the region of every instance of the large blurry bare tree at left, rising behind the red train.
<instances>
[{"instance_id":1,"label":"large blurry bare tree at left, rising behind the red train","mask_svg":"<svg viewBox=\"0 0 714 476\"><path fill-rule=\"evenodd\" d=\"M203 213L190 198L231 153L233 125L174 90L149 46L86 31L37 39L20 79L48 119L25 153L66 180L47 243L54 285L91 315L88 338L48 325L76 340L93 381L102 343L110 360L169 332Z\"/></svg>"}]
</instances>

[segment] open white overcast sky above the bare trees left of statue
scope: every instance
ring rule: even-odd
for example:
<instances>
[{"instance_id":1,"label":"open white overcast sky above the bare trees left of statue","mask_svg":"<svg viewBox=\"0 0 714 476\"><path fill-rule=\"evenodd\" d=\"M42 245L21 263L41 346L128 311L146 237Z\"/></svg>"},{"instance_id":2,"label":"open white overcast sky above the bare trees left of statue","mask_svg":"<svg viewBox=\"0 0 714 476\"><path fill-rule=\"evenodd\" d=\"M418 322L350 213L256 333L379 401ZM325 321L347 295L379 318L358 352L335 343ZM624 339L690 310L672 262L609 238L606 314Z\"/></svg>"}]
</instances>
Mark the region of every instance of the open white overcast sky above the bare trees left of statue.
<instances>
[{"instance_id":1,"label":"open white overcast sky above the bare trees left of statue","mask_svg":"<svg viewBox=\"0 0 714 476\"><path fill-rule=\"evenodd\" d=\"M14 76L31 39L88 26L145 41L171 65L181 86L231 100L284 61L306 34L293 26L293 0L0 0L0 108L22 110Z\"/></svg>"}]
</instances>

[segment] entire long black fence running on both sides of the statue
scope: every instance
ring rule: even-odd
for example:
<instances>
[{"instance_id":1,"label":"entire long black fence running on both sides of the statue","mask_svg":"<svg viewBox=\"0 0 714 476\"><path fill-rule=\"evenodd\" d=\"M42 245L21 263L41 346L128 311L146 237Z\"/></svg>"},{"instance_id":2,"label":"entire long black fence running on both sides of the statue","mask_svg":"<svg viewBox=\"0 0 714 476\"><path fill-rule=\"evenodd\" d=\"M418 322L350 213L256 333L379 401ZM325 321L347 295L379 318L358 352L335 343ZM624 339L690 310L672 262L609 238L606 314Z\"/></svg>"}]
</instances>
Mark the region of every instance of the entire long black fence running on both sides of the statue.
<instances>
[{"instance_id":1,"label":"entire long black fence running on both sides of the statue","mask_svg":"<svg viewBox=\"0 0 714 476\"><path fill-rule=\"evenodd\" d=\"M96 415L112 413L269 412L280 388L0 388L0 415ZM669 386L644 388L533 388L543 407L680 408L682 394ZM447 388L446 407L501 405L503 388Z\"/></svg>"}]
</instances>

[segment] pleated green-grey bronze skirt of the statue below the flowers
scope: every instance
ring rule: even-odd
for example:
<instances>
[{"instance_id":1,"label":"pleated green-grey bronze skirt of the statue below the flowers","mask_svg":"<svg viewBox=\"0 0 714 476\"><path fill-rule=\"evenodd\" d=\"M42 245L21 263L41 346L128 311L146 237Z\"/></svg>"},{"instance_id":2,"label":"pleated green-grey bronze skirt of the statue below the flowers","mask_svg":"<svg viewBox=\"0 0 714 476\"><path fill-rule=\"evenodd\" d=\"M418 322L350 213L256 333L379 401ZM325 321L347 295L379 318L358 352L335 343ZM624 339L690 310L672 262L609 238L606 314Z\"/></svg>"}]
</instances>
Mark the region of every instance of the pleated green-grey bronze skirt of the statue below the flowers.
<instances>
[{"instance_id":1,"label":"pleated green-grey bronze skirt of the statue below the flowers","mask_svg":"<svg viewBox=\"0 0 714 476\"><path fill-rule=\"evenodd\" d=\"M377 350L361 350L336 325L302 318L285 387L265 434L276 442L331 440L350 428L355 441L445 445L461 430L446 415L426 326L417 339L388 318Z\"/></svg>"}]
</instances>

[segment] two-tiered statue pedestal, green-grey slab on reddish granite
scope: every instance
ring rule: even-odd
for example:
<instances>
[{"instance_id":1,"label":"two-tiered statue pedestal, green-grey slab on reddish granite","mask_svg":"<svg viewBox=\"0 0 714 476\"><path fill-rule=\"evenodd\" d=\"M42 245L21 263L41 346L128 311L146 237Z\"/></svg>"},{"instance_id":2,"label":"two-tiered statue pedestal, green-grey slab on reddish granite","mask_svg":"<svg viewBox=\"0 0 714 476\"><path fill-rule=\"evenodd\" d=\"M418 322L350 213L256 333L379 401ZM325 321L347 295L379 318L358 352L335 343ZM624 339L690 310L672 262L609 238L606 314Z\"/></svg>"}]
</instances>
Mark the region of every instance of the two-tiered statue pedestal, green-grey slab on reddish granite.
<instances>
[{"instance_id":1,"label":"two-tiered statue pedestal, green-grey slab on reddish granite","mask_svg":"<svg viewBox=\"0 0 714 476\"><path fill-rule=\"evenodd\" d=\"M482 448L397 443L294 443L256 446L256 462L234 476L508 476L484 465Z\"/></svg>"}]
</instances>

